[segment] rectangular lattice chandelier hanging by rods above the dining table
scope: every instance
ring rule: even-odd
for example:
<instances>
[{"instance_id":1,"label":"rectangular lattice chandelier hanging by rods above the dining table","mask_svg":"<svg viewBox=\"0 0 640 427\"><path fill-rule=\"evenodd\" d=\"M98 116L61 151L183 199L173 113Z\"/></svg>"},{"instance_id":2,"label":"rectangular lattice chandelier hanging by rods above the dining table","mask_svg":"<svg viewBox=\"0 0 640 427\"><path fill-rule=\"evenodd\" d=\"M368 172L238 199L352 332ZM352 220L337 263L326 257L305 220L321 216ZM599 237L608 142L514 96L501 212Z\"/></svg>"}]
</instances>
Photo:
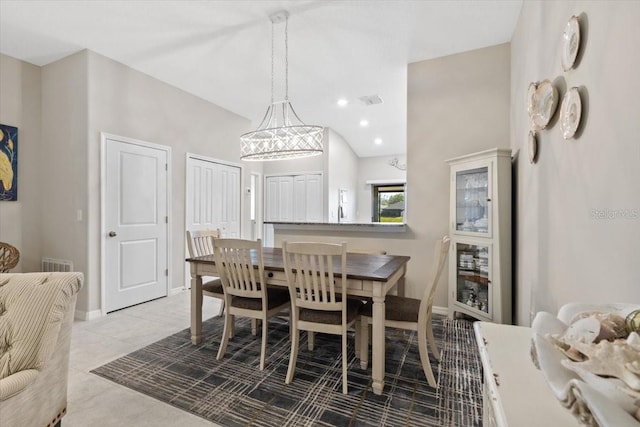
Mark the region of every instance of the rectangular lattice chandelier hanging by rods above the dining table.
<instances>
[{"instance_id":1,"label":"rectangular lattice chandelier hanging by rods above the dining table","mask_svg":"<svg viewBox=\"0 0 640 427\"><path fill-rule=\"evenodd\" d=\"M322 154L322 126L306 125L289 102L289 13L280 11L271 18L271 105L258 129L240 136L242 160L283 160ZM285 22L285 94L274 101L274 26Z\"/></svg>"}]
</instances>

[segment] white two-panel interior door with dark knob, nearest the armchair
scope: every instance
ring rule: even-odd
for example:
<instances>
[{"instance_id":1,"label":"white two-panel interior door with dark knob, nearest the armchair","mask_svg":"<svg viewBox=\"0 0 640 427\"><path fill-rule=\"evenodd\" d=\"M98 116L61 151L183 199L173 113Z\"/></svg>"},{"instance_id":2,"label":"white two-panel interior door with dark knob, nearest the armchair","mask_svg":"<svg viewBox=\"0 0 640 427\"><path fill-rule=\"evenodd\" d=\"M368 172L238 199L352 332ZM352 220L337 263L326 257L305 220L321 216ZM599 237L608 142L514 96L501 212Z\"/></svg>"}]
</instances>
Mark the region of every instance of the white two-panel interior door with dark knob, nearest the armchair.
<instances>
[{"instance_id":1,"label":"white two-panel interior door with dark knob, nearest the armchair","mask_svg":"<svg viewBox=\"0 0 640 427\"><path fill-rule=\"evenodd\" d=\"M169 148L106 136L107 312L167 295Z\"/></svg>"}]
</instances>

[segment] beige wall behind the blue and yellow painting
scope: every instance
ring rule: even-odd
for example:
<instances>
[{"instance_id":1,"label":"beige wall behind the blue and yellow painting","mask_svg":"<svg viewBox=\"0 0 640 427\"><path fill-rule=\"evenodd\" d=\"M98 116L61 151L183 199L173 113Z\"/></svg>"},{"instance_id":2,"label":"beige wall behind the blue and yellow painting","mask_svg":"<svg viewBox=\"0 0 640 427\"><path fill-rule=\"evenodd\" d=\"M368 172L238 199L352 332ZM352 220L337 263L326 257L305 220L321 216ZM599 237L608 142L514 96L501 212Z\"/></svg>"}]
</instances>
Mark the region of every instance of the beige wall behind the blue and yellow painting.
<instances>
[{"instance_id":1,"label":"beige wall behind the blue and yellow painting","mask_svg":"<svg viewBox=\"0 0 640 427\"><path fill-rule=\"evenodd\" d=\"M40 266L40 89L39 67L0 55L0 123L18 128L18 200L0 202L0 241L20 251L13 271Z\"/></svg>"}]
</instances>

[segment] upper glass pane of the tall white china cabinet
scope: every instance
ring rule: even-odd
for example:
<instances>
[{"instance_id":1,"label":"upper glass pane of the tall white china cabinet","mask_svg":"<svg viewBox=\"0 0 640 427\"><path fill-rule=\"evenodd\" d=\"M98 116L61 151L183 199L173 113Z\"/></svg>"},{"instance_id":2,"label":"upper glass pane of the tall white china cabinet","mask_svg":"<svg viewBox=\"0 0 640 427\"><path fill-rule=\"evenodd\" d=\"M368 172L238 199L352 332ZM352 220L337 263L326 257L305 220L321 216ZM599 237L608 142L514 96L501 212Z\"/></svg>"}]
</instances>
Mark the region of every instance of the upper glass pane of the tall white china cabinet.
<instances>
[{"instance_id":1,"label":"upper glass pane of the tall white china cabinet","mask_svg":"<svg viewBox=\"0 0 640 427\"><path fill-rule=\"evenodd\" d=\"M456 172L456 231L490 234L489 167Z\"/></svg>"}]
</instances>

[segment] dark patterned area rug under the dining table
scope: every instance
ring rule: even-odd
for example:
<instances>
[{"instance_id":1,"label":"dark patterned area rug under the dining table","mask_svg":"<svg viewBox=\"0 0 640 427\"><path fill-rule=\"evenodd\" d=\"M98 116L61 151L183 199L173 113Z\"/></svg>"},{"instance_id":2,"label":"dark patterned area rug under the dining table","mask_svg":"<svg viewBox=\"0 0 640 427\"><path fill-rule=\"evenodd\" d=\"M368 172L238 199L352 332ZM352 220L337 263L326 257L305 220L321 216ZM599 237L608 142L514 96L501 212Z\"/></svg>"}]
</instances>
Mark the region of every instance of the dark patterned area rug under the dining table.
<instances>
[{"instance_id":1,"label":"dark patterned area rug under the dining table","mask_svg":"<svg viewBox=\"0 0 640 427\"><path fill-rule=\"evenodd\" d=\"M293 382L284 384L290 343L286 319L269 322L264 371L260 334L238 319L223 360L216 361L222 318L203 322L192 345L186 329L92 372L223 426L479 426L482 368L467 320L434 319L442 361L431 356L439 388L427 384L413 332L387 329L385 388L373 394L371 367L360 369L349 340L349 394L342 394L340 337L306 333ZM371 360L371 359L370 359Z\"/></svg>"}]
</instances>

